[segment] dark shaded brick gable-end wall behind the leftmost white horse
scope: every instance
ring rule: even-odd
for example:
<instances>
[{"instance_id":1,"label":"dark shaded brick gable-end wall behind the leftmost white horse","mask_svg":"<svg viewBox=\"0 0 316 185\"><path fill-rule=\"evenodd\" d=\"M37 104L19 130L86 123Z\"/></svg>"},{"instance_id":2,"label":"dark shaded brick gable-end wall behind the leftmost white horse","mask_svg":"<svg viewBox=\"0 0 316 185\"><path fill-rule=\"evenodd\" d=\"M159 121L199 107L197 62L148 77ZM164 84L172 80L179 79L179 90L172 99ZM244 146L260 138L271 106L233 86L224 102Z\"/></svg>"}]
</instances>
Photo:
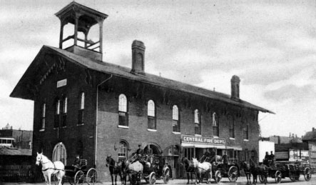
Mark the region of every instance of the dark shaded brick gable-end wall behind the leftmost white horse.
<instances>
[{"instance_id":1,"label":"dark shaded brick gable-end wall behind the leftmost white horse","mask_svg":"<svg viewBox=\"0 0 316 185\"><path fill-rule=\"evenodd\" d=\"M53 64L56 59L49 61ZM66 146L67 165L73 164L76 154L81 154L84 159L88 159L88 166L94 164L94 128L95 128L95 107L96 88L94 84L94 72L66 61L66 65L60 71L54 71L46 78L40 86L39 96L34 101L34 149L33 156L37 151L41 151L44 145L44 155L52 159L53 148L58 142ZM67 79L66 86L56 88L56 82ZM77 126L78 109L80 104L81 91L85 92L84 124ZM55 102L56 99L68 98L67 125L59 129L54 127ZM45 130L40 130L41 106L46 104L46 124ZM59 133L58 133L59 132ZM80 142L83 149L80 149Z\"/></svg>"}]
</instances>

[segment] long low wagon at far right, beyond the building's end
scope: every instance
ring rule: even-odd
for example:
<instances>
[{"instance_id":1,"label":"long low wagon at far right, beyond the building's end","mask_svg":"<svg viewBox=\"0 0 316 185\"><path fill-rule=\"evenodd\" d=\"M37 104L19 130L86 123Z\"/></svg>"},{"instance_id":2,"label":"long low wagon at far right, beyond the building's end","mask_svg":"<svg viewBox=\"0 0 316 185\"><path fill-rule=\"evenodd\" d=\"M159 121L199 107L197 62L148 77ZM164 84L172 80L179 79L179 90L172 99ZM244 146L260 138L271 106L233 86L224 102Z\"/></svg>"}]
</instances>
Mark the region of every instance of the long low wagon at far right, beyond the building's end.
<instances>
[{"instance_id":1,"label":"long low wagon at far right, beyond the building's end","mask_svg":"<svg viewBox=\"0 0 316 185\"><path fill-rule=\"evenodd\" d=\"M301 174L304 176L305 181L310 181L312 178L310 165L305 162L298 164L294 161L276 161L268 169L267 177L275 179L277 184L285 178L290 178L291 181L298 181ZM259 175L259 180L262 183L266 181L263 174Z\"/></svg>"}]
</instances>

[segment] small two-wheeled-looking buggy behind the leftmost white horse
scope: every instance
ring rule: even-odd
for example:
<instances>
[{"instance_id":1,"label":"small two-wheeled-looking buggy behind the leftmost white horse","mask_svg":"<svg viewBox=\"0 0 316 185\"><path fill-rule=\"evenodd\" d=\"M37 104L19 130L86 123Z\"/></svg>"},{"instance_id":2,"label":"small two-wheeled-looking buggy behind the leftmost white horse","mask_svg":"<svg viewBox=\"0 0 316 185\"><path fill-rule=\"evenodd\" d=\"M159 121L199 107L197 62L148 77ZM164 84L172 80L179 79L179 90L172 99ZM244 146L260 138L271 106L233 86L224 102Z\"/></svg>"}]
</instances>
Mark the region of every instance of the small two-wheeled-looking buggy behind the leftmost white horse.
<instances>
[{"instance_id":1,"label":"small two-wheeled-looking buggy behind the leftmost white horse","mask_svg":"<svg viewBox=\"0 0 316 185\"><path fill-rule=\"evenodd\" d=\"M65 166L65 176L63 177L63 182L68 180L71 185L84 184L84 182L88 185L95 184L98 179L96 169L86 169L86 167L86 159L80 160L78 168L75 168L74 166Z\"/></svg>"}]
</instances>

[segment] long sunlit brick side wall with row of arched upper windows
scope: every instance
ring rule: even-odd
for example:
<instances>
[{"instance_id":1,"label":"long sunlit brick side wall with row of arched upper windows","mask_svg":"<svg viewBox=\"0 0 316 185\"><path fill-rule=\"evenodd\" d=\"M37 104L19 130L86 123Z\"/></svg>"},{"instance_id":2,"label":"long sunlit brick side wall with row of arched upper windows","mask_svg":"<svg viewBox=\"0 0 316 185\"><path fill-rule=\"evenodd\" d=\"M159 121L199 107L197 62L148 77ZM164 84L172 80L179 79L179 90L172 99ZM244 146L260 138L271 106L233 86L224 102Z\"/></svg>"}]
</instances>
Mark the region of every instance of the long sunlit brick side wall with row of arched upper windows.
<instances>
[{"instance_id":1,"label":"long sunlit brick side wall with row of arched upper windows","mask_svg":"<svg viewBox=\"0 0 316 185\"><path fill-rule=\"evenodd\" d=\"M118 85L120 84L120 85ZM202 122L202 136L213 137L212 114L215 111L219 117L220 138L225 138L227 146L238 146L248 151L258 153L258 111L230 106L215 102L213 107L205 109L202 97L192 97L189 102L183 99L186 96L180 92L168 92L168 89L146 84L139 86L137 82L128 79L113 77L103 85L98 96L98 151L97 168L102 171L101 179L108 180L109 171L105 166L106 156L111 154L118 159L114 144L119 141L128 141L131 151L136 151L142 142L156 143L162 150L171 145L180 145L180 134L172 132L172 106L176 104L180 109L181 134L194 135L194 110L199 109ZM140 90L141 89L141 90ZM167 93L167 94L168 94ZM118 96L125 94L128 99L128 126L118 128ZM157 131L148 131L147 102L152 99L156 103ZM235 140L229 137L228 114L235 118ZM243 139L242 120L247 119L249 124L248 141Z\"/></svg>"}]
</instances>

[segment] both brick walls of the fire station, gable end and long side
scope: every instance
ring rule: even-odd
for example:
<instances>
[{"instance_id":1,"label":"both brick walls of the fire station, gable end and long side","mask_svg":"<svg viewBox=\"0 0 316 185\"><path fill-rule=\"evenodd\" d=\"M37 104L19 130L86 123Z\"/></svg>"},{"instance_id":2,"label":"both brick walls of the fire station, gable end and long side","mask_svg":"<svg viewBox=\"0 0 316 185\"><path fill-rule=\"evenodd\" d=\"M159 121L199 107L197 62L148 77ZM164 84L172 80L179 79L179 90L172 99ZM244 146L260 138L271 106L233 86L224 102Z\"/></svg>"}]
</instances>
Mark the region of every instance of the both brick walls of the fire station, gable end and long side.
<instances>
[{"instance_id":1,"label":"both brick walls of the fire station, gable end and long side","mask_svg":"<svg viewBox=\"0 0 316 185\"><path fill-rule=\"evenodd\" d=\"M46 62L52 65L53 62L57 62L57 59L53 58ZM34 156L36 156L36 151L44 146L44 154L51 159L53 147L58 142L62 142L67 149L67 164L70 165L78 153L78 142L81 141L83 158L88 159L88 167L93 166L96 86L108 76L108 74L87 71L81 66L66 61L65 66L60 70L56 69L46 78L39 86L39 96L34 101ZM56 81L61 79L67 79L67 85L57 89ZM81 91L86 94L85 118L84 125L77 126ZM128 98L128 129L118 128L118 96L120 94L125 94ZM67 126L54 129L55 101L56 97L62 96L68 97ZM156 132L147 130L147 102L150 99L156 103ZM211 102L210 105L205 104L208 101ZM46 103L46 127L44 131L39 131L41 106L44 103ZM180 145L180 134L172 133L172 106L174 104L180 111L181 134L194 135L193 112L199 109L202 136L213 137L212 114L215 111L219 117L220 138L226 139L227 146L238 146L258 152L258 111L113 76L99 88L98 92L96 169L101 181L109 180L108 169L105 166L106 156L112 154L117 160L118 151L114 150L114 144L118 144L121 140L128 142L129 154L136 151L138 144L142 142L155 143L162 151L168 146ZM228 114L235 118L235 140L229 139ZM249 141L243 140L243 119L247 119L249 123Z\"/></svg>"}]
</instances>

